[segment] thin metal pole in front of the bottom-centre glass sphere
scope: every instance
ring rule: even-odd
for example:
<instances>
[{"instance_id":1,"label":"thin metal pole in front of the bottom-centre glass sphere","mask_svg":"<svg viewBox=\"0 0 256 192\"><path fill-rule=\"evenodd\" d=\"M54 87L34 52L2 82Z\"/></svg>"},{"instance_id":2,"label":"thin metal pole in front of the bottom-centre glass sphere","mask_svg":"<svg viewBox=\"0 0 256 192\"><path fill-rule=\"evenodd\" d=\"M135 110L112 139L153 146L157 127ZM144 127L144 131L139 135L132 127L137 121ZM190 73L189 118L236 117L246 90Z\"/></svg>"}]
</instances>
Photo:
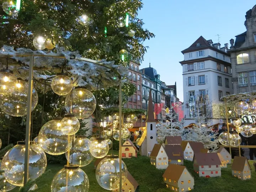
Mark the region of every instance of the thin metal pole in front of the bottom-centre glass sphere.
<instances>
[{"instance_id":1,"label":"thin metal pole in front of the bottom-centre glass sphere","mask_svg":"<svg viewBox=\"0 0 256 192\"><path fill-rule=\"evenodd\" d=\"M122 81L119 79L119 192L122 192Z\"/></svg>"}]
</instances>

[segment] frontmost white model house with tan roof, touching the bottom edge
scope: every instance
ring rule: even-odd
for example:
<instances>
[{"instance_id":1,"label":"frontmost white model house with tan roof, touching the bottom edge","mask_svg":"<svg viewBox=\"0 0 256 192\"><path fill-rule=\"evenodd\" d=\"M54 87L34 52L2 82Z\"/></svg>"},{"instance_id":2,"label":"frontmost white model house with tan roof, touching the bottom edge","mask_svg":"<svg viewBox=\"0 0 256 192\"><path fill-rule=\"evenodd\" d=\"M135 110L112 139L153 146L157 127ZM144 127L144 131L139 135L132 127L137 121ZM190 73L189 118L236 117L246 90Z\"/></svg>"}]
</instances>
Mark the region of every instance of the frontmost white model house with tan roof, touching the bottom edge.
<instances>
[{"instance_id":1,"label":"frontmost white model house with tan roof, touching the bottom edge","mask_svg":"<svg viewBox=\"0 0 256 192\"><path fill-rule=\"evenodd\" d=\"M162 177L166 187L172 191L190 191L194 188L194 178L185 166L170 164Z\"/></svg>"}]
</instances>

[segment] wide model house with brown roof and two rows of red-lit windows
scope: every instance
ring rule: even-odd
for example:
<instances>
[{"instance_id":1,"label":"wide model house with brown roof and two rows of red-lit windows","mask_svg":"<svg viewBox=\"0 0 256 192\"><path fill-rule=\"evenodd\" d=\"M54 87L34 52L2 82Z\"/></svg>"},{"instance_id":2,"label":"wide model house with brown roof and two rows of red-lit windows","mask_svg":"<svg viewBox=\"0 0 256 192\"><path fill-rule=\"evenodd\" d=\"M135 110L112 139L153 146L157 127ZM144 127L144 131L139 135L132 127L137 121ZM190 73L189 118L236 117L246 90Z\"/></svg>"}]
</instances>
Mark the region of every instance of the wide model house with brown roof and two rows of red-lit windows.
<instances>
[{"instance_id":1,"label":"wide model house with brown roof and two rows of red-lit windows","mask_svg":"<svg viewBox=\"0 0 256 192\"><path fill-rule=\"evenodd\" d=\"M199 177L221 176L221 162L217 153L194 154L193 167Z\"/></svg>"}]
</instances>

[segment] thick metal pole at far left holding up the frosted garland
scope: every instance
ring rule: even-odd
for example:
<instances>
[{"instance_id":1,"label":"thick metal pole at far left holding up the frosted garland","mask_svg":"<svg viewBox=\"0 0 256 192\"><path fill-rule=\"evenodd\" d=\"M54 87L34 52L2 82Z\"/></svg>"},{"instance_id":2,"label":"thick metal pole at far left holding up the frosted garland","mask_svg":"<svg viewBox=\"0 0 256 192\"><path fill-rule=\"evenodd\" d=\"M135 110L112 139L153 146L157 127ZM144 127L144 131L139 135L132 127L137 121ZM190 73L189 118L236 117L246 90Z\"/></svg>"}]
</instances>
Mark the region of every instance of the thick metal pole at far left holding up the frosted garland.
<instances>
[{"instance_id":1,"label":"thick metal pole at far left holding up the frosted garland","mask_svg":"<svg viewBox=\"0 0 256 192\"><path fill-rule=\"evenodd\" d=\"M30 128L31 128L31 106L32 106L32 91L33 91L33 61L34 56L30 56L29 76L28 76L28 100L27 100L27 119L26 119L26 143L25 143L25 164L24 164L24 182L28 181L29 169L29 154L30 154Z\"/></svg>"}]
</instances>

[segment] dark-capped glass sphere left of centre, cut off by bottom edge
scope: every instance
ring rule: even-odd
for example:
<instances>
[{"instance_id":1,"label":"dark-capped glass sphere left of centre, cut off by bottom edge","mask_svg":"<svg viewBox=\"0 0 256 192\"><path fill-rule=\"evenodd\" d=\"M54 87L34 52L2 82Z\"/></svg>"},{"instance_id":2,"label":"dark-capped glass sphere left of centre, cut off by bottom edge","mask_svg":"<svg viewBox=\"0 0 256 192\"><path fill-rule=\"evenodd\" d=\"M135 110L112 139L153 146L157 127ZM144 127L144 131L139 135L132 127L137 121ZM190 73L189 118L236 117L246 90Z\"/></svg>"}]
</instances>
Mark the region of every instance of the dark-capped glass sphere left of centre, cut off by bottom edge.
<instances>
[{"instance_id":1,"label":"dark-capped glass sphere left of centre, cut off by bottom edge","mask_svg":"<svg viewBox=\"0 0 256 192\"><path fill-rule=\"evenodd\" d=\"M89 178L78 165L65 165L52 180L51 192L88 192Z\"/></svg>"}]
</instances>

